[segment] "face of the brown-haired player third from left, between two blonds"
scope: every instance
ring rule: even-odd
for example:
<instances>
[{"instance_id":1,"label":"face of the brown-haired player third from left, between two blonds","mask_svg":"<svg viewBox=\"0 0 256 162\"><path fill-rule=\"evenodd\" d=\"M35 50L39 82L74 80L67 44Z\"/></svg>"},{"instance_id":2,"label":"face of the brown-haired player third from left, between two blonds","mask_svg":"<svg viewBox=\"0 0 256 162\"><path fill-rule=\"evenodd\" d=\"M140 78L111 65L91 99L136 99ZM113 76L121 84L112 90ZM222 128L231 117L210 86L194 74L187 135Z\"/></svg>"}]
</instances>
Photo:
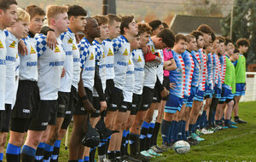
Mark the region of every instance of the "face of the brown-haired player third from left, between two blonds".
<instances>
[{"instance_id":1,"label":"face of the brown-haired player third from left, between two blonds","mask_svg":"<svg viewBox=\"0 0 256 162\"><path fill-rule=\"evenodd\" d=\"M39 33L44 25L44 15L36 14L29 23L29 31L33 34Z\"/></svg>"}]
</instances>

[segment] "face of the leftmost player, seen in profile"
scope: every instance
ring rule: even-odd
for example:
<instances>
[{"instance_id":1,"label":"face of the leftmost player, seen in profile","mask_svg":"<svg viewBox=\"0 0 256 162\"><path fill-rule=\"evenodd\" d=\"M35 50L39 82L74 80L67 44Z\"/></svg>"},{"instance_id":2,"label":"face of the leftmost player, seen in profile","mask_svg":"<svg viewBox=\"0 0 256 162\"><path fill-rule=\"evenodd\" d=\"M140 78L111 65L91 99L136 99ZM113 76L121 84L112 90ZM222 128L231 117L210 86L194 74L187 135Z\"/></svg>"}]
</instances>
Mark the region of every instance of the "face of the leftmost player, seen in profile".
<instances>
[{"instance_id":1,"label":"face of the leftmost player, seen in profile","mask_svg":"<svg viewBox=\"0 0 256 162\"><path fill-rule=\"evenodd\" d=\"M3 27L10 27L13 26L17 20L17 9L18 6L16 4L12 4L9 6L9 9L6 9L4 12L1 9L1 17L3 19Z\"/></svg>"}]
</instances>

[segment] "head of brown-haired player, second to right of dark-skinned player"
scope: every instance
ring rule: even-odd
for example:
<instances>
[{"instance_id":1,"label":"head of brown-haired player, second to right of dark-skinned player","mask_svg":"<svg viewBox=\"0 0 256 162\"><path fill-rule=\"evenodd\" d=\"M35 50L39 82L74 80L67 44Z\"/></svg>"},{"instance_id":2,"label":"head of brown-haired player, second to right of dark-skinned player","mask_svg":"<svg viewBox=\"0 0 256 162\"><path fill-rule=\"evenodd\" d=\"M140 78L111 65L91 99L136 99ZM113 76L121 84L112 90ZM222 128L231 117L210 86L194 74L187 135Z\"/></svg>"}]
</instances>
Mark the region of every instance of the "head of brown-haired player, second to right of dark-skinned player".
<instances>
[{"instance_id":1,"label":"head of brown-haired player, second to right of dark-skinned player","mask_svg":"<svg viewBox=\"0 0 256 162\"><path fill-rule=\"evenodd\" d=\"M120 35L120 25L122 19L116 14L108 14L108 27L109 34L108 38L117 38Z\"/></svg>"}]
</instances>

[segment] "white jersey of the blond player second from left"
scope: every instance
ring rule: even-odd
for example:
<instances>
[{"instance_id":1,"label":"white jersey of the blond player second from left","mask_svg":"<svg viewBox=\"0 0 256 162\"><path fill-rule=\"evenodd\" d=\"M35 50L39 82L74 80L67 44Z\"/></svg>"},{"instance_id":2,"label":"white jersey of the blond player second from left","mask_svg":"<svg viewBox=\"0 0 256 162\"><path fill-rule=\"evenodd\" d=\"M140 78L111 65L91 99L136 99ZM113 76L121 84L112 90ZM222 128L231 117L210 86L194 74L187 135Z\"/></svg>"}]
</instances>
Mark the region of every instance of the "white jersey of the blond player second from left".
<instances>
[{"instance_id":1,"label":"white jersey of the blond player second from left","mask_svg":"<svg viewBox=\"0 0 256 162\"><path fill-rule=\"evenodd\" d=\"M15 97L15 62L18 59L18 38L11 32L4 31L6 35L6 83L5 103L12 105Z\"/></svg>"}]
</instances>

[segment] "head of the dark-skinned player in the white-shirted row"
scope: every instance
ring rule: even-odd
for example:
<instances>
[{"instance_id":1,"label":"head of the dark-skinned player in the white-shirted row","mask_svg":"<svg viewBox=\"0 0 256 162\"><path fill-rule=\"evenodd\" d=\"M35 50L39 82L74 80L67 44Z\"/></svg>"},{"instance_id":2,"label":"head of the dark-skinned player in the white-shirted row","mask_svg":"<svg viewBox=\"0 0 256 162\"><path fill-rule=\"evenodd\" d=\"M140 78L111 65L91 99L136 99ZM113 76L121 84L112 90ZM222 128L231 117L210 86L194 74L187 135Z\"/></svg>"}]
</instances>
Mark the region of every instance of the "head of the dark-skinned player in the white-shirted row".
<instances>
[{"instance_id":1,"label":"head of the dark-skinned player in the white-shirted row","mask_svg":"<svg viewBox=\"0 0 256 162\"><path fill-rule=\"evenodd\" d=\"M98 25L97 21L92 17L86 17L86 25L84 26L84 35L85 37L90 38L100 38L101 37L101 29Z\"/></svg>"}]
</instances>

